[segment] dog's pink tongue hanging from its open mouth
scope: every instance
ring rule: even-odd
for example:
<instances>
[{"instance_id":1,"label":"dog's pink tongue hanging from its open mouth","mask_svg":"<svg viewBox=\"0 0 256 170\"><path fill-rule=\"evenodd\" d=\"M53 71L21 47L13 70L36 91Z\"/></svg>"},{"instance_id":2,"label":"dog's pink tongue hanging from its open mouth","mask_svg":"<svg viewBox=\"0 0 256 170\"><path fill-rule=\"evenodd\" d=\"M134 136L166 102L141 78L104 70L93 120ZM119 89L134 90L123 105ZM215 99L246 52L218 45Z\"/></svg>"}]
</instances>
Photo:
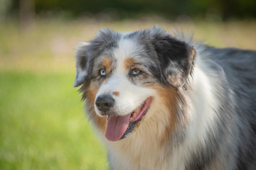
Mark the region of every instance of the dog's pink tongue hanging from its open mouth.
<instances>
[{"instance_id":1,"label":"dog's pink tongue hanging from its open mouth","mask_svg":"<svg viewBox=\"0 0 256 170\"><path fill-rule=\"evenodd\" d=\"M110 118L107 120L107 130L105 133L107 140L117 141L121 139L128 128L131 114L124 116L110 115Z\"/></svg>"}]
</instances>

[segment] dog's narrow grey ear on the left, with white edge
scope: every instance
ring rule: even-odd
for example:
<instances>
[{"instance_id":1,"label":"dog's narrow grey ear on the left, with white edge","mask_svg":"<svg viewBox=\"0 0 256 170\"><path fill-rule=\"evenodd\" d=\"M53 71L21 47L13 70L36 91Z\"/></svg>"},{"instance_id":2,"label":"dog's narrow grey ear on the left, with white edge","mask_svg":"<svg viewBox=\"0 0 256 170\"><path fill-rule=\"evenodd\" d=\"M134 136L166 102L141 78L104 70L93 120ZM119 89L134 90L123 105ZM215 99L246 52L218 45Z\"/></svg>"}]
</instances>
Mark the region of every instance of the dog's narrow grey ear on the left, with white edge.
<instances>
[{"instance_id":1,"label":"dog's narrow grey ear on the left, with white edge","mask_svg":"<svg viewBox=\"0 0 256 170\"><path fill-rule=\"evenodd\" d=\"M76 50L78 50L76 54L76 77L74 87L80 86L88 74L89 67L89 57L87 55L87 47L90 45L88 42L80 42Z\"/></svg>"}]
</instances>

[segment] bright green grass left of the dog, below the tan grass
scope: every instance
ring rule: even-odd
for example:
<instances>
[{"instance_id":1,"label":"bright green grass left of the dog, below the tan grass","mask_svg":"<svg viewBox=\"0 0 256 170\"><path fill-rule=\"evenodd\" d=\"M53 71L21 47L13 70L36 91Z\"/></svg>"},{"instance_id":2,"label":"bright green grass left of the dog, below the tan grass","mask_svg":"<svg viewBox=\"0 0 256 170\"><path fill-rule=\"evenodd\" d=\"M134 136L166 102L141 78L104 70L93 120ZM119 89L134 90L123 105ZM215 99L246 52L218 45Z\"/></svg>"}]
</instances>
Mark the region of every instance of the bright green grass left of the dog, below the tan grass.
<instances>
[{"instance_id":1,"label":"bright green grass left of the dog, below the tan grass","mask_svg":"<svg viewBox=\"0 0 256 170\"><path fill-rule=\"evenodd\" d=\"M0 169L108 169L74 77L0 73Z\"/></svg>"}]
</instances>

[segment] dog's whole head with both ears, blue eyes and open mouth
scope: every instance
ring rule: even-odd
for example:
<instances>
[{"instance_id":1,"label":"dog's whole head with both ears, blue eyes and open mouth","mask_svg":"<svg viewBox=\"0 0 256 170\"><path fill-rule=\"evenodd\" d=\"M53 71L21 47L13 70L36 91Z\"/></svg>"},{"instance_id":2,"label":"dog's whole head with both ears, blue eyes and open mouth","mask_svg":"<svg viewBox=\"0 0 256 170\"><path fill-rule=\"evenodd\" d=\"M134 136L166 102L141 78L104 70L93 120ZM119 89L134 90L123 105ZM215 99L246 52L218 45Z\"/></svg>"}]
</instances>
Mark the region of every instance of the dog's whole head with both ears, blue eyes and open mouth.
<instances>
[{"instance_id":1,"label":"dog's whole head with both ears, blue eyes and open mouth","mask_svg":"<svg viewBox=\"0 0 256 170\"><path fill-rule=\"evenodd\" d=\"M74 86L82 85L87 112L107 139L120 140L139 128L142 118L143 123L161 114L156 108L171 114L194 53L157 27L132 33L100 30L94 40L78 46Z\"/></svg>"}]
</instances>

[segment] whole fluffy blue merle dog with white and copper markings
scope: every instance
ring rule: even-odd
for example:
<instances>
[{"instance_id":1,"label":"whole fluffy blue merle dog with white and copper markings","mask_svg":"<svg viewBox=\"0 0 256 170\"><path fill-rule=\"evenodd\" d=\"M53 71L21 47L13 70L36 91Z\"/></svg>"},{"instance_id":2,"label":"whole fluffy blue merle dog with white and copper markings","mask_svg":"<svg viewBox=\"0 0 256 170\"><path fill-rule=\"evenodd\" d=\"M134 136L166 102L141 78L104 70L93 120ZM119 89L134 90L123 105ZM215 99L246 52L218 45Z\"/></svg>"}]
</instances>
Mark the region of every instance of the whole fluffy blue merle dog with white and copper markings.
<instances>
[{"instance_id":1,"label":"whole fluffy blue merle dog with white and copper markings","mask_svg":"<svg viewBox=\"0 0 256 170\"><path fill-rule=\"evenodd\" d=\"M256 169L256 52L154 26L77 47L74 86L110 169Z\"/></svg>"}]
</instances>

